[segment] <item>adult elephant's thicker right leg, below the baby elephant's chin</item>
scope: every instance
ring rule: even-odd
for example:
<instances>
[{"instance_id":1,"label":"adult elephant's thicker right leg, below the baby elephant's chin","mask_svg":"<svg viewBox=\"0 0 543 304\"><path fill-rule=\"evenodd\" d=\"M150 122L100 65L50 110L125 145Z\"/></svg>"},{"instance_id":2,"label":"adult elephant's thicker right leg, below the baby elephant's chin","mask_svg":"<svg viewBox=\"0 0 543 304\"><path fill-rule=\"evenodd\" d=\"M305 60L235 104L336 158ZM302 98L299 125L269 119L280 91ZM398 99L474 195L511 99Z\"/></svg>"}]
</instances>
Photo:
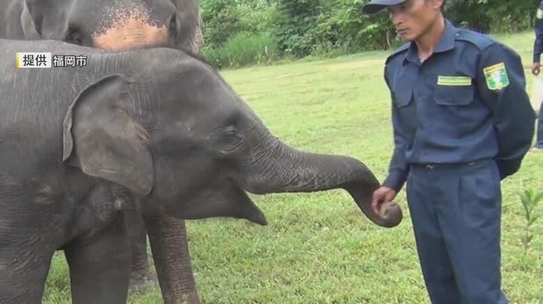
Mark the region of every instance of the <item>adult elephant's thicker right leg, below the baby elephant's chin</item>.
<instances>
[{"instance_id":1,"label":"adult elephant's thicker right leg, below the baby elephant's chin","mask_svg":"<svg viewBox=\"0 0 543 304\"><path fill-rule=\"evenodd\" d=\"M200 303L183 220L152 215L145 220L165 304Z\"/></svg>"}]
</instances>

